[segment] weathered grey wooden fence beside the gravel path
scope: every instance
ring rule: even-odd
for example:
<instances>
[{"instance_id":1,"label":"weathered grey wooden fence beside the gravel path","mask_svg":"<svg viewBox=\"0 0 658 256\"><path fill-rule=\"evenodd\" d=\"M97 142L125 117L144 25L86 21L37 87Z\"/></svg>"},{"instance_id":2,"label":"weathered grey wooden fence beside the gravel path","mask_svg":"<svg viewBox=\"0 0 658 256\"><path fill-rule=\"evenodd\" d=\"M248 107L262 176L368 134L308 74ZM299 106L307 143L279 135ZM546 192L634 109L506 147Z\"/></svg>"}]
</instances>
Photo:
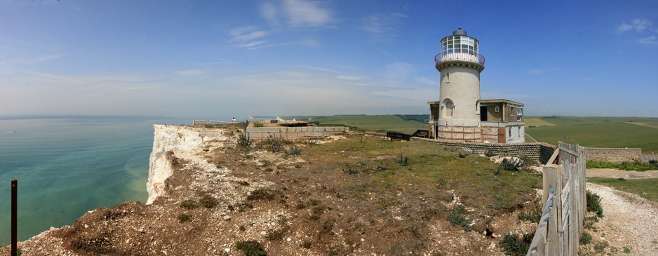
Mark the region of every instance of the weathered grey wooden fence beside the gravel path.
<instances>
[{"instance_id":1,"label":"weathered grey wooden fence beside the gravel path","mask_svg":"<svg viewBox=\"0 0 658 256\"><path fill-rule=\"evenodd\" d=\"M544 211L527 255L577 255L586 210L585 150L559 142L544 165Z\"/></svg>"}]
</instances>

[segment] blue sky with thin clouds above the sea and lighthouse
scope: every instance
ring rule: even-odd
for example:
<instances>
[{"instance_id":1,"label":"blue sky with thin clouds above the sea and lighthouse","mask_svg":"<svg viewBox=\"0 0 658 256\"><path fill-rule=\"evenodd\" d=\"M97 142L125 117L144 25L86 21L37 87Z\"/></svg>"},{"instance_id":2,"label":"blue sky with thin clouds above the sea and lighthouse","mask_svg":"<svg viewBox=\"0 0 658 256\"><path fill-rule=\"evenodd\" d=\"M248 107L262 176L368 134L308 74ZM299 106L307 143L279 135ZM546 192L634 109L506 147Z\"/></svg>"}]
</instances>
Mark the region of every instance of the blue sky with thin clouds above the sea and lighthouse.
<instances>
[{"instance_id":1,"label":"blue sky with thin clouds above the sea and lighthouse","mask_svg":"<svg viewBox=\"0 0 658 256\"><path fill-rule=\"evenodd\" d=\"M658 117L658 1L0 0L0 116L429 114L462 27L482 99Z\"/></svg>"}]
</instances>

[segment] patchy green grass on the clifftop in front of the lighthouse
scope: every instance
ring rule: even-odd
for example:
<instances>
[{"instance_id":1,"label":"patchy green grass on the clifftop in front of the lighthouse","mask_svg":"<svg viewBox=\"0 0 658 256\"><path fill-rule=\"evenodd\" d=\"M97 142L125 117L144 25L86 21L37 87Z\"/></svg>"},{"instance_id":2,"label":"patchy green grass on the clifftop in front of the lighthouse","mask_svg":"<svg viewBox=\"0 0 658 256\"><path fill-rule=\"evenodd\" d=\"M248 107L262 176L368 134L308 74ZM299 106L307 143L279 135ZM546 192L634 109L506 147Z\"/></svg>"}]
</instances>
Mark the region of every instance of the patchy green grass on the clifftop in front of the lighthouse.
<instances>
[{"instance_id":1,"label":"patchy green grass on the clifftop in front of the lighthouse","mask_svg":"<svg viewBox=\"0 0 658 256\"><path fill-rule=\"evenodd\" d=\"M328 167L342 173L349 164L359 175L349 175L349 182L339 190L368 198L369 193L386 194L382 196L384 206L395 200L398 189L436 188L419 192L424 198L432 198L427 205L441 205L445 198L456 194L464 206L480 209L478 214L509 213L523 206L527 196L535 193L533 189L542 187L539 174L502 170L495 175L499 165L488 158L476 154L460 158L457 151L431 142L359 142L355 136L307 150L314 151L311 154L325 155L326 152L340 152L335 156L337 161ZM407 166L396 163L401 154L408 157ZM327 157L334 157L332 155ZM382 162L388 166L385 170L377 168ZM361 180L363 177L369 179Z\"/></svg>"}]
</instances>

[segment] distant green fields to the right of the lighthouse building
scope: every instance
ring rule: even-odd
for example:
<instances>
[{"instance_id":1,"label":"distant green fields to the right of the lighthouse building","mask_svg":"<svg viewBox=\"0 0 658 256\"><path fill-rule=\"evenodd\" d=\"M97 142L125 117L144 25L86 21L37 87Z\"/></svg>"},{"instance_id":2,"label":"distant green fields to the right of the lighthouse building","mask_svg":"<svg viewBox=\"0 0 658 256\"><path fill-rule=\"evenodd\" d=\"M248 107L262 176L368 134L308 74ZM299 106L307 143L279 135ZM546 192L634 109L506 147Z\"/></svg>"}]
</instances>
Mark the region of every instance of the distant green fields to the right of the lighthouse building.
<instances>
[{"instance_id":1,"label":"distant green fields to the right of the lighthouse building","mask_svg":"<svg viewBox=\"0 0 658 256\"><path fill-rule=\"evenodd\" d=\"M658 119L642 117L532 117L556 126L528 127L525 133L540 142L558 141L584 147L641 148L658 152ZM635 124L638 123L638 124Z\"/></svg>"}]
</instances>

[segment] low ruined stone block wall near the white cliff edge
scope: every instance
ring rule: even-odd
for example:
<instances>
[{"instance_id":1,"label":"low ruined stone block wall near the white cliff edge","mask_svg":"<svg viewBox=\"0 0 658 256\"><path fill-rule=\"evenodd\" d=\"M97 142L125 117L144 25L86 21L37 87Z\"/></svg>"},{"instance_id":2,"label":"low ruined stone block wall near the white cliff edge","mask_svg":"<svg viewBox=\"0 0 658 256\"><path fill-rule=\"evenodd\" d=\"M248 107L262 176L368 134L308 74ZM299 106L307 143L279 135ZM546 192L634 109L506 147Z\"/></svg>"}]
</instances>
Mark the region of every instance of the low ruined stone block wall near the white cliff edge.
<instances>
[{"instance_id":1,"label":"low ruined stone block wall near the white cliff edge","mask_svg":"<svg viewBox=\"0 0 658 256\"><path fill-rule=\"evenodd\" d=\"M328 137L346 130L347 128L342 126L247 127L247 135L253 139L262 137Z\"/></svg>"}]
</instances>

